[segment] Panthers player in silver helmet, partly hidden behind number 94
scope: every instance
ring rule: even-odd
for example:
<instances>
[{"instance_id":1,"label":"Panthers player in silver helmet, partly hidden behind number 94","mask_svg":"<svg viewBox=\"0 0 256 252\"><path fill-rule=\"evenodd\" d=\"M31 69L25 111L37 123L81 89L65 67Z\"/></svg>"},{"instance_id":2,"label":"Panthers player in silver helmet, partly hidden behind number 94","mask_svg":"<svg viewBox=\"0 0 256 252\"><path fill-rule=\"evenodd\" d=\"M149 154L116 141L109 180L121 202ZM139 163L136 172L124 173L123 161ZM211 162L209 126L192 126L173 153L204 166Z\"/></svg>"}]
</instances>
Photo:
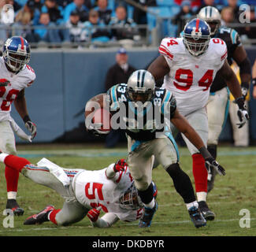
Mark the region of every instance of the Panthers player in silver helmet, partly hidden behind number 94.
<instances>
[{"instance_id":1,"label":"Panthers player in silver helmet, partly hidden behind number 94","mask_svg":"<svg viewBox=\"0 0 256 252\"><path fill-rule=\"evenodd\" d=\"M222 39L228 48L228 64L232 65L232 60L239 65L241 87L243 98L246 98L250 83L250 60L247 57L247 52L244 50L239 39L239 34L236 30L227 27L220 27L221 14L213 6L206 6L198 13L198 18L206 20L210 25L210 35L212 38ZM217 158L217 143L221 130L224 126L224 121L228 116L229 91L227 83L220 73L214 78L210 86L210 97L207 104L208 124L209 124L209 139L207 149L212 154L213 158ZM217 111L217 113L216 113ZM242 128L245 124L239 124ZM216 172L213 169L208 169L208 192L213 189L213 183Z\"/></svg>"}]
</instances>

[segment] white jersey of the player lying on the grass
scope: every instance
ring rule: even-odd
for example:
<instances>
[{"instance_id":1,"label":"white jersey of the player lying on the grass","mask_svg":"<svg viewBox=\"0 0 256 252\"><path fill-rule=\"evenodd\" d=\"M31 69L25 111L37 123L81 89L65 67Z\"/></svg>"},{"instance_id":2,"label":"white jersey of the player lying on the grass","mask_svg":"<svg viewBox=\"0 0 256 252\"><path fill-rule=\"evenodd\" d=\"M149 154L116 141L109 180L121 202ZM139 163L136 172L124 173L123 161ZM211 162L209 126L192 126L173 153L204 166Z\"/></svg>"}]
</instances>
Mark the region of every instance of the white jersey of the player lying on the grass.
<instances>
[{"instance_id":1,"label":"white jersey of the player lying on the grass","mask_svg":"<svg viewBox=\"0 0 256 252\"><path fill-rule=\"evenodd\" d=\"M88 209L101 206L103 212L115 213L121 221L135 221L142 217L144 209L122 209L119 204L119 198L132 181L128 167L124 172L117 172L114 180L107 179L106 169L84 170L74 177L72 187L78 202Z\"/></svg>"}]
</instances>

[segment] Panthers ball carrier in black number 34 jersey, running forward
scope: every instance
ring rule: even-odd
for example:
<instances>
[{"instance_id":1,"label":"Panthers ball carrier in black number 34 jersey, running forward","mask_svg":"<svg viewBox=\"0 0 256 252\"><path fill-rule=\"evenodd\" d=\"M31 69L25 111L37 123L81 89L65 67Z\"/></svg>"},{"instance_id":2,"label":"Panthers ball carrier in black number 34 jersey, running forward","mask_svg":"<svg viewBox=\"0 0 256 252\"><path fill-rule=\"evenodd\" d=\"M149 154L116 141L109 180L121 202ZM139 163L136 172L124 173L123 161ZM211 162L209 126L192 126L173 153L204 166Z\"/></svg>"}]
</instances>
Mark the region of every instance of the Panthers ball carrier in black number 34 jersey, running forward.
<instances>
[{"instance_id":1,"label":"Panthers ball carrier in black number 34 jersey, running forward","mask_svg":"<svg viewBox=\"0 0 256 252\"><path fill-rule=\"evenodd\" d=\"M180 169L179 152L169 130L170 121L198 148L210 165L224 175L224 169L211 157L202 139L191 128L187 120L176 109L176 100L171 92L155 87L154 77L146 70L132 73L128 83L113 86L107 95L97 95L87 102L85 109L86 126L97 132L91 124L96 105L112 113L111 125L118 119L119 128L128 135L128 165L139 197L144 204L144 214L139 221L140 228L150 227L158 203L153 198L152 168L154 160L163 166L173 179L176 191L184 199L195 227L206 225L198 211L194 189L187 174Z\"/></svg>"}]
</instances>

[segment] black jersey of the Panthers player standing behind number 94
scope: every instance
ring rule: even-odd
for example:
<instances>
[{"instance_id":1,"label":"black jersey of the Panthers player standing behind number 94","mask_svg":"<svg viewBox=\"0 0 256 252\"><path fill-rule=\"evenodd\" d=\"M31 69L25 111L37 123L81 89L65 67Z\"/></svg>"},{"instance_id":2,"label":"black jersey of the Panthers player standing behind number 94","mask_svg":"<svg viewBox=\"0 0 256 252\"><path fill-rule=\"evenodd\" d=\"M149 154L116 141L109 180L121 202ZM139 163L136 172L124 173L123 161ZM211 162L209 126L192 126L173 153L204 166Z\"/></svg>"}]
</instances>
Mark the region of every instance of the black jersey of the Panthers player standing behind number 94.
<instances>
[{"instance_id":1,"label":"black jersey of the Panthers player standing behind number 94","mask_svg":"<svg viewBox=\"0 0 256 252\"><path fill-rule=\"evenodd\" d=\"M232 64L232 57L236 50L237 46L242 46L242 43L239 38L239 34L236 30L227 27L219 28L217 34L214 36L215 38L220 38L224 40L228 49L228 64ZM217 72L212 85L210 86L210 92L215 92L221 90L223 87L226 87L227 84L224 81L224 78Z\"/></svg>"}]
</instances>

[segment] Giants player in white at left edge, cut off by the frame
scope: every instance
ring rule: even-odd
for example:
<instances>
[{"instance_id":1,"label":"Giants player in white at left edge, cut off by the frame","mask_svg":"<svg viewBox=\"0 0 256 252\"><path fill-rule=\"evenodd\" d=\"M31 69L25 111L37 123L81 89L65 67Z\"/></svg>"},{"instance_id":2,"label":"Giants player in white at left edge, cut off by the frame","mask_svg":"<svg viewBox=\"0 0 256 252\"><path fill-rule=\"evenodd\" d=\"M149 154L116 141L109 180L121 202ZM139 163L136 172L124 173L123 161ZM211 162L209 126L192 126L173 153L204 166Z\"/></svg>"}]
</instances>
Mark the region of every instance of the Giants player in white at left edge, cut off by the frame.
<instances>
[{"instance_id":1,"label":"Giants player in white at left edge, cut off by the frame","mask_svg":"<svg viewBox=\"0 0 256 252\"><path fill-rule=\"evenodd\" d=\"M30 46L18 36L6 40L0 57L0 149L8 154L16 154L15 137L19 127L10 116L11 104L24 120L25 127L35 137L36 126L28 116L24 89L35 80L35 72L28 65ZM14 126L15 125L15 126ZM12 209L15 215L22 215L24 209L17 204L17 184L19 172L6 165L7 203L6 209Z\"/></svg>"}]
</instances>

